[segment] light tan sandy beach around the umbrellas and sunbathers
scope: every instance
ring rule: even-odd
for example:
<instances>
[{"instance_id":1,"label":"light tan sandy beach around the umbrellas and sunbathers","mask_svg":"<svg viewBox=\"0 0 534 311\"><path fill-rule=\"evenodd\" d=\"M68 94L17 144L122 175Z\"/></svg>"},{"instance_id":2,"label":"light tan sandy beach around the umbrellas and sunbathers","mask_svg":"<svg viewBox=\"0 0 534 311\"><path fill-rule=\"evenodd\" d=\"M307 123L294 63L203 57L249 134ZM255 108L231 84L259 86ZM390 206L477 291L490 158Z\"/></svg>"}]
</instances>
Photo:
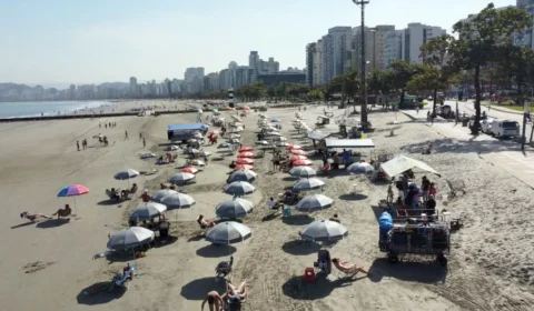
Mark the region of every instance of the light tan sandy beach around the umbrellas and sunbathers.
<instances>
[{"instance_id":1,"label":"light tan sandy beach around the umbrellas and sunbathers","mask_svg":"<svg viewBox=\"0 0 534 311\"><path fill-rule=\"evenodd\" d=\"M129 110L147 101L128 101L113 108ZM165 104L168 101L149 101ZM172 101L186 109L199 103ZM323 114L324 107L301 112L308 124ZM344 110L333 110L335 116ZM269 118L281 120L281 133L307 148L310 141L290 126L295 109L269 109ZM229 112L222 112L229 117ZM255 203L254 212L243 222L253 238L231 245L214 247L196 237L198 214L215 219L217 203L231 197L222 193L228 164L235 157L220 157L217 146L202 147L212 152L195 184L184 188L196 199L190 209L167 213L170 243L154 248L137 260L138 275L128 291L120 294L85 295L83 291L111 279L126 262L92 260L106 251L108 233L127 225L128 212L140 200L109 202L105 190L126 188L126 181L113 179L117 171L136 169L158 173L138 177L139 189L154 193L160 182L186 163L180 154L175 165L156 165L154 159L140 160L139 153L162 154L166 129L171 123L192 123L195 113L159 117L123 117L106 119L61 120L0 123L0 195L4 198L0 220L0 301L2 310L199 310L206 293L225 291L216 282L218 262L235 258L231 280L247 280L249 298L243 310L532 310L534 308L534 231L528 215L534 213L534 190L503 169L478 157L469 142L444 138L427 126L398 114L394 126L392 112L369 116L378 129L369 134L376 144L373 152L406 154L419 159L442 173L428 175L438 193L448 192L447 180L463 180L465 194L447 200L446 209L461 217L465 227L452 235L448 268L428 260L406 260L392 265L378 250L377 203L386 198L387 185L350 180L344 173L319 178L326 182L323 194L335 200L332 209L295 218L271 218L267 200L295 183L289 174L271 172L271 154L256 159L254 182L257 191L246 199ZM229 120L229 118L228 118ZM117 122L116 128L99 124ZM255 146L257 113L244 118L244 146ZM128 131L129 139L125 139ZM332 121L324 131L337 132ZM101 147L92 137L101 133L109 147ZM141 133L147 139L142 148ZM77 151L76 141L87 139L89 148ZM221 140L219 139L219 143ZM421 151L434 142L437 152ZM366 152L366 151L364 151ZM314 158L314 168L320 165ZM421 180L423 173L416 173ZM52 214L63 204L73 207L72 198L57 198L66 184L80 183L90 193L76 198L76 217L70 221L28 222L23 211ZM354 184L360 195L350 195ZM140 191L138 192L140 194ZM438 209L444 208L443 195ZM298 231L314 219L338 213L348 229L348 237L329 245L333 257L369 269L372 275L357 274L347 280L335 272L327 280L304 283L305 268L313 267L318 245L299 240ZM206 308L207 309L207 308Z\"/></svg>"}]
</instances>

